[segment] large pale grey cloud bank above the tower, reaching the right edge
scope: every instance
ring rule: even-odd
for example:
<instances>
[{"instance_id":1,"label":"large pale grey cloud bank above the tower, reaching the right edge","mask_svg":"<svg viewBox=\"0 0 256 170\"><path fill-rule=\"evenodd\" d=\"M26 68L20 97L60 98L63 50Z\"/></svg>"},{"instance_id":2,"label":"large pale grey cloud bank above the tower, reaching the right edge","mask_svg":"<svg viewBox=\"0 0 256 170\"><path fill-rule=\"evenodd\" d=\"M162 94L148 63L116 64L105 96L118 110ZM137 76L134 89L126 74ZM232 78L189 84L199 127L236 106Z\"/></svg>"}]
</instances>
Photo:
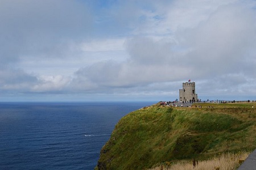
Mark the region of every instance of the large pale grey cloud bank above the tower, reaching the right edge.
<instances>
[{"instance_id":1,"label":"large pale grey cloud bank above the tower, reaching the right edge","mask_svg":"<svg viewBox=\"0 0 256 170\"><path fill-rule=\"evenodd\" d=\"M214 80L218 82L218 87L229 88L224 88L229 94L236 92L231 90L233 86L228 85L233 84L229 83L229 79L233 79L233 82L239 79L240 85L235 83L234 86L237 92L245 92L242 88L248 83L247 79L254 76L254 71L251 71L251 75L245 78L246 70L255 70L248 63L253 55L247 55L248 50L254 49L256 45L255 11L246 5L241 6L240 3L228 3L214 3L212 7L206 3L200 6L197 2L192 6L187 4L184 8L175 9L181 5L177 3L173 7L174 11L170 11L170 14L176 15L168 18L170 24L175 16L179 22L174 22L174 33L171 36L127 39L125 45L130 57L126 61L96 63L81 69L77 78L86 77L86 80L97 84L99 88L138 87L140 90L146 87L153 90L153 85L150 84L180 83L181 79L187 78L205 81L205 85L212 84ZM195 6L199 9L193 8ZM184 14L183 11L187 12ZM196 20L187 23L191 18ZM148 28L154 30L154 27ZM214 89L209 92L212 95L220 89L209 87ZM201 91L204 92L204 89Z\"/></svg>"}]
</instances>

